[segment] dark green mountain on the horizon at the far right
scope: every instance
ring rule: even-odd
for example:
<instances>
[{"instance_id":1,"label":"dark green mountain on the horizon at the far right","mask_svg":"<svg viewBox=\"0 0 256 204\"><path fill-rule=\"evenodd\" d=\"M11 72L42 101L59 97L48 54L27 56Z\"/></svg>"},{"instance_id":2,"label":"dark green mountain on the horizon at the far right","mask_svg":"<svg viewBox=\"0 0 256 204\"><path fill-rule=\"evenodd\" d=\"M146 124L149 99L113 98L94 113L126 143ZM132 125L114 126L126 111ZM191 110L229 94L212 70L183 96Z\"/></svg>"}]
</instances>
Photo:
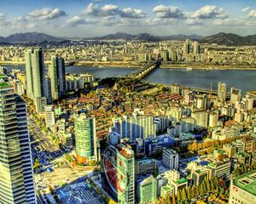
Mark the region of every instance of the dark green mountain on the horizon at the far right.
<instances>
[{"instance_id":1,"label":"dark green mountain on the horizon at the far right","mask_svg":"<svg viewBox=\"0 0 256 204\"><path fill-rule=\"evenodd\" d=\"M220 32L213 36L203 37L202 43L215 43L222 45L256 45L256 35L241 37L233 33Z\"/></svg>"}]
</instances>

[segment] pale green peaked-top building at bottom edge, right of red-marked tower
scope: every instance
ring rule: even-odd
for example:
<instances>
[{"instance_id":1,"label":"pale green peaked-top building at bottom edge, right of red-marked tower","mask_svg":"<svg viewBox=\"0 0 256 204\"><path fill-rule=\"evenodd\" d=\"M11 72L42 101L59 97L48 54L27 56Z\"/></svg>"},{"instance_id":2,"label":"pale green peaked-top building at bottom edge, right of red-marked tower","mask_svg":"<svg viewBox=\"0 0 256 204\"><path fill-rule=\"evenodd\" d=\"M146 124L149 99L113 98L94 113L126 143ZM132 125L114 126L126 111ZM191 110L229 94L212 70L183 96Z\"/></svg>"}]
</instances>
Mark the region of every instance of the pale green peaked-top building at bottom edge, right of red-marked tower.
<instances>
[{"instance_id":1,"label":"pale green peaked-top building at bottom edge, right of red-marked tower","mask_svg":"<svg viewBox=\"0 0 256 204\"><path fill-rule=\"evenodd\" d=\"M151 175L138 181L137 201L138 203L152 203L157 200L157 182Z\"/></svg>"}]
</instances>

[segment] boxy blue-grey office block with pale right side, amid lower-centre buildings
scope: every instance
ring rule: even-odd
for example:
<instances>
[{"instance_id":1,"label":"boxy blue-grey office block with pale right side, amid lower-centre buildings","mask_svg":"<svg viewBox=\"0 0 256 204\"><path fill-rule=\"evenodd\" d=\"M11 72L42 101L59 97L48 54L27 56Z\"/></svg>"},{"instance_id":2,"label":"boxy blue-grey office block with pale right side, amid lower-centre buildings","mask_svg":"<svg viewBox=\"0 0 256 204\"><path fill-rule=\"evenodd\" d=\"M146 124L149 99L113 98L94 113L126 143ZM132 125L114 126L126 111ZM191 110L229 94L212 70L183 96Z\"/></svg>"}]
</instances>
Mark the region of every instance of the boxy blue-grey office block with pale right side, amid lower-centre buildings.
<instances>
[{"instance_id":1,"label":"boxy blue-grey office block with pale right side, amid lower-centre buildings","mask_svg":"<svg viewBox=\"0 0 256 204\"><path fill-rule=\"evenodd\" d=\"M163 165L168 169L177 169L178 168L178 155L175 150L167 149L163 152Z\"/></svg>"}]
</instances>

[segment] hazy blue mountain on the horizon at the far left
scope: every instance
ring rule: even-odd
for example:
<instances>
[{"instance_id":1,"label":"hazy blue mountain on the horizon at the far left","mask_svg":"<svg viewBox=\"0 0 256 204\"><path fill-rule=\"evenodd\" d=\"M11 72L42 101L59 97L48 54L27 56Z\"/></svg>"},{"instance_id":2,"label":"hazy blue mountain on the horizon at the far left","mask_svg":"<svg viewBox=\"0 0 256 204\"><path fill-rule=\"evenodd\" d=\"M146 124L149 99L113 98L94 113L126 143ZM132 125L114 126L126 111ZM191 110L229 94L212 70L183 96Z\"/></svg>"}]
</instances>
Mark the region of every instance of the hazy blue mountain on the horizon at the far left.
<instances>
[{"instance_id":1,"label":"hazy blue mountain on the horizon at the far left","mask_svg":"<svg viewBox=\"0 0 256 204\"><path fill-rule=\"evenodd\" d=\"M61 41L62 38L49 36L41 32L15 33L9 37L0 37L0 42L43 42Z\"/></svg>"}]
</instances>

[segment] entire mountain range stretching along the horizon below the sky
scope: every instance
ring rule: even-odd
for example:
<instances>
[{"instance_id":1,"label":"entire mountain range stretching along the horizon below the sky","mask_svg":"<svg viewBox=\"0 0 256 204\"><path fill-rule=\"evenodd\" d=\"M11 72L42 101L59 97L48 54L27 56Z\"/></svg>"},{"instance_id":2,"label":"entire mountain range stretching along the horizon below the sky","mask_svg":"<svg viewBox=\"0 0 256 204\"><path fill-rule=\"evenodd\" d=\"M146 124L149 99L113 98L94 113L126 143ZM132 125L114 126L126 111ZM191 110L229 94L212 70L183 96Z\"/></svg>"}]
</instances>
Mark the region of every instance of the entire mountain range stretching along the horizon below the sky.
<instances>
[{"instance_id":1,"label":"entire mountain range stretching along the horizon below the sky","mask_svg":"<svg viewBox=\"0 0 256 204\"><path fill-rule=\"evenodd\" d=\"M241 37L233 33L220 32L216 35L201 37L198 35L171 35L154 36L148 33L138 35L127 34L125 32L116 32L102 37L79 38L80 41L88 40L141 40L141 41L162 41L162 40L196 40L201 43L216 43L219 45L256 45L256 35ZM0 37L0 43L16 42L70 42L75 40L73 37L53 37L40 32L15 33L8 37Z\"/></svg>"}]
</instances>

